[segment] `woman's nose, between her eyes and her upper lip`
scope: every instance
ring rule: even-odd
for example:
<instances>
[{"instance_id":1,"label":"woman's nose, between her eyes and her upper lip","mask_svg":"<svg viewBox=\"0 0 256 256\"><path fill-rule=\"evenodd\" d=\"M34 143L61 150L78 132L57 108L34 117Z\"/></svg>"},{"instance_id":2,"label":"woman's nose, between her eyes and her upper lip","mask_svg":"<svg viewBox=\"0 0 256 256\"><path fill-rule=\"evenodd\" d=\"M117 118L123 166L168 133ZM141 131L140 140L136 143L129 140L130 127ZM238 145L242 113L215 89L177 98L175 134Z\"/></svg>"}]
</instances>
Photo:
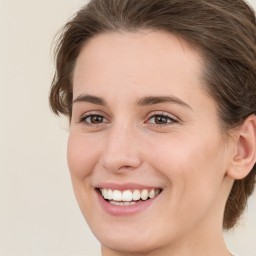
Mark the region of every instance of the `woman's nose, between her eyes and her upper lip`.
<instances>
[{"instance_id":1,"label":"woman's nose, between her eyes and her upper lip","mask_svg":"<svg viewBox=\"0 0 256 256\"><path fill-rule=\"evenodd\" d=\"M99 163L115 173L123 173L141 164L138 135L131 127L113 125L106 132L105 144Z\"/></svg>"}]
</instances>

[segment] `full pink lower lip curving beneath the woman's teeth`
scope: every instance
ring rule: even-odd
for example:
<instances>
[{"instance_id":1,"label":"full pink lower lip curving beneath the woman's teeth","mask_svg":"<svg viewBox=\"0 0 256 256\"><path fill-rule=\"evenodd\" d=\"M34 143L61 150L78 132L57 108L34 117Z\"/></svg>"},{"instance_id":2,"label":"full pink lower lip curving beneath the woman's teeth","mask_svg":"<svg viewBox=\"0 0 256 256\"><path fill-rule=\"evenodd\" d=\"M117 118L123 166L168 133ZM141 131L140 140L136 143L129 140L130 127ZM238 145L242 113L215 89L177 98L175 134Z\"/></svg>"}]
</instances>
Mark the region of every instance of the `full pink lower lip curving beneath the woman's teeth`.
<instances>
[{"instance_id":1,"label":"full pink lower lip curving beneath the woman's teeth","mask_svg":"<svg viewBox=\"0 0 256 256\"><path fill-rule=\"evenodd\" d=\"M149 207L151 203L158 197L158 196L155 196L153 198L147 199L145 201L140 201L140 202L137 202L136 204L131 204L131 205L115 205L106 201L101 196L99 190L96 190L96 193L97 193L99 203L103 208L103 210L106 213L114 216L127 216L127 215L137 214L145 210L147 207Z\"/></svg>"}]
</instances>

